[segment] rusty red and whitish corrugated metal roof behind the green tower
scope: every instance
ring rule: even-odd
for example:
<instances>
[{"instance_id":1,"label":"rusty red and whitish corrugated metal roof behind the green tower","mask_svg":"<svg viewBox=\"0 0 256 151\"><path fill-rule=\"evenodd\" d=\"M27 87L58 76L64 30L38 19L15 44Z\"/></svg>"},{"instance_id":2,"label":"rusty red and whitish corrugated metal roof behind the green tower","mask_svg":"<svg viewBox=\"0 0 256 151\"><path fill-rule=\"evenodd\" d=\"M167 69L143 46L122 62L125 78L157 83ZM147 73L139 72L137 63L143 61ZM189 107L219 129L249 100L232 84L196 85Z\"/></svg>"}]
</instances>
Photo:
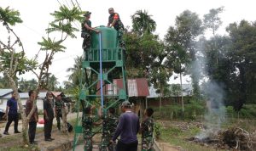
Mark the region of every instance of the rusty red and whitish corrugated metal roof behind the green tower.
<instances>
[{"instance_id":1,"label":"rusty red and whitish corrugated metal roof behind the green tower","mask_svg":"<svg viewBox=\"0 0 256 151\"><path fill-rule=\"evenodd\" d=\"M97 87L98 89L100 88L100 82L97 83ZM106 84L106 86L103 87L103 94L117 95L119 89L122 89L123 87L122 79L113 79L113 85ZM145 78L128 79L127 88L129 97L147 97L149 95L148 81ZM100 91L96 94L100 95Z\"/></svg>"}]
</instances>

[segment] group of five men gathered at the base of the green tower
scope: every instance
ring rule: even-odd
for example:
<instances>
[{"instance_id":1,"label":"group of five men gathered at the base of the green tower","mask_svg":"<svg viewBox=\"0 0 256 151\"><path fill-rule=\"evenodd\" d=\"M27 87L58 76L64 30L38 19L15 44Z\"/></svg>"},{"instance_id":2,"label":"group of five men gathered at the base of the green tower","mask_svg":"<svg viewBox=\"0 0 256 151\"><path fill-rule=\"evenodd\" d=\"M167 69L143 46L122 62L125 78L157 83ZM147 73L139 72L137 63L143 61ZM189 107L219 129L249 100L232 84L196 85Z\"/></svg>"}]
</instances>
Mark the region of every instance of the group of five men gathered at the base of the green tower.
<instances>
[{"instance_id":1,"label":"group of five men gathered at the base of the green tower","mask_svg":"<svg viewBox=\"0 0 256 151\"><path fill-rule=\"evenodd\" d=\"M82 117L82 126L84 133L84 150L92 150L92 127L98 126L103 122L102 144L108 146L109 151L137 151L137 133L142 134L142 151L153 150L153 131L154 120L152 115L154 110L151 108L145 109L143 121L140 123L139 117L132 112L131 103L124 101L121 104L122 114L117 118L115 109L109 108L108 115L102 116L102 122L96 122L91 117L92 109L95 106L84 109ZM101 109L99 109L102 113ZM120 137L117 145L115 141Z\"/></svg>"}]
</instances>

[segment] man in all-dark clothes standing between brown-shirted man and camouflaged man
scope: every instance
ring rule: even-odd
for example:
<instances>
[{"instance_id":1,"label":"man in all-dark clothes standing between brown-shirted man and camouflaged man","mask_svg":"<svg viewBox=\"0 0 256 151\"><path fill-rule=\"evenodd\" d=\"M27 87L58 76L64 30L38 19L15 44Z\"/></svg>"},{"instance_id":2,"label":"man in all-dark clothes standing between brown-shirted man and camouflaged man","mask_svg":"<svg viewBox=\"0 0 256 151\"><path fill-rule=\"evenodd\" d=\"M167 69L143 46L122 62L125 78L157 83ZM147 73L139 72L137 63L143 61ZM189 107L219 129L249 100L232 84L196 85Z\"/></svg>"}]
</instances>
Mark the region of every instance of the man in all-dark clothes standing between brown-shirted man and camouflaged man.
<instances>
[{"instance_id":1,"label":"man in all-dark clothes standing between brown-shirted man and camouflaged man","mask_svg":"<svg viewBox=\"0 0 256 151\"><path fill-rule=\"evenodd\" d=\"M44 141L50 142L54 140L54 138L51 138L53 119L53 95L51 92L47 92L46 98L44 98Z\"/></svg>"}]
</instances>

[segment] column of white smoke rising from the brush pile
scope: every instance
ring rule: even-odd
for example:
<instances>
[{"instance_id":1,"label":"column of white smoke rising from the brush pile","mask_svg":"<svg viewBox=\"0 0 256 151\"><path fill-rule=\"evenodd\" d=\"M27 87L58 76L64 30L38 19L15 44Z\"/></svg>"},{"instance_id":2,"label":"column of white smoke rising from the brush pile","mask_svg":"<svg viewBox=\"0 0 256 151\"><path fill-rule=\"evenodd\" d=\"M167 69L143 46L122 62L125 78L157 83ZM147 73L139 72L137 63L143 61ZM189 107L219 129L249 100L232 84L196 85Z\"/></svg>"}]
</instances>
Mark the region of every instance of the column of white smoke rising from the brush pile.
<instances>
[{"instance_id":1,"label":"column of white smoke rising from the brush pile","mask_svg":"<svg viewBox=\"0 0 256 151\"><path fill-rule=\"evenodd\" d=\"M201 83L201 95L203 100L207 102L207 112L204 116L205 130L196 136L200 139L210 137L212 134L217 133L220 129L221 123L224 121L225 108L224 108L224 86L217 81L213 81L211 77L207 75L207 60L203 57L204 41L201 41L197 45L197 53L195 67L193 72L195 76L200 79Z\"/></svg>"}]
</instances>

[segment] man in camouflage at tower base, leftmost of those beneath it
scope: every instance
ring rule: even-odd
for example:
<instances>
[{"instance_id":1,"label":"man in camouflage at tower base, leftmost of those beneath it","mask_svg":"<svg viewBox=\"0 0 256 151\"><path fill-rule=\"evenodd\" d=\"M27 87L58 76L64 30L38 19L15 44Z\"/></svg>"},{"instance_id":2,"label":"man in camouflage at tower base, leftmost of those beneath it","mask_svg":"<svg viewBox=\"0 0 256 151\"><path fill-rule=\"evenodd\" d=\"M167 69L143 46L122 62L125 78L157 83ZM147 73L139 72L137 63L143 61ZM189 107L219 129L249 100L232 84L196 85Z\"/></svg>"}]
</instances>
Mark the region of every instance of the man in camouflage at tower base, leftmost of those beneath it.
<instances>
[{"instance_id":1,"label":"man in camouflage at tower base, leftmost of those beneath it","mask_svg":"<svg viewBox=\"0 0 256 151\"><path fill-rule=\"evenodd\" d=\"M89 106L84 109L82 116L82 126L83 126L83 136L84 136L84 151L92 150L92 137L93 133L91 131L92 126L99 126L101 123L96 123L91 117L92 109L95 106Z\"/></svg>"}]
</instances>

